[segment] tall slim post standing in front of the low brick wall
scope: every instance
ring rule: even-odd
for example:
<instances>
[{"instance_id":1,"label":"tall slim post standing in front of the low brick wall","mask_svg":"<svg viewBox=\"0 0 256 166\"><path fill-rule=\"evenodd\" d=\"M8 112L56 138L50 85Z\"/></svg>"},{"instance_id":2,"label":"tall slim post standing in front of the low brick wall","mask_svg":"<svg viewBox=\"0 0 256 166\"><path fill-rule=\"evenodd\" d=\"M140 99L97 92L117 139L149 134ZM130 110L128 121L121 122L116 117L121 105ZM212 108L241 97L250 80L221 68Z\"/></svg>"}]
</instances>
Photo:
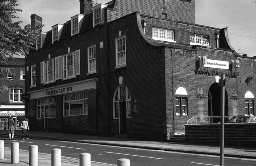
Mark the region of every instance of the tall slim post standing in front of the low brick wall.
<instances>
[{"instance_id":1,"label":"tall slim post standing in front of the low brick wall","mask_svg":"<svg viewBox=\"0 0 256 166\"><path fill-rule=\"evenodd\" d=\"M221 151L220 151L220 166L224 164L224 110L225 110L225 74L221 74L219 86L221 86Z\"/></svg>"}]
</instances>

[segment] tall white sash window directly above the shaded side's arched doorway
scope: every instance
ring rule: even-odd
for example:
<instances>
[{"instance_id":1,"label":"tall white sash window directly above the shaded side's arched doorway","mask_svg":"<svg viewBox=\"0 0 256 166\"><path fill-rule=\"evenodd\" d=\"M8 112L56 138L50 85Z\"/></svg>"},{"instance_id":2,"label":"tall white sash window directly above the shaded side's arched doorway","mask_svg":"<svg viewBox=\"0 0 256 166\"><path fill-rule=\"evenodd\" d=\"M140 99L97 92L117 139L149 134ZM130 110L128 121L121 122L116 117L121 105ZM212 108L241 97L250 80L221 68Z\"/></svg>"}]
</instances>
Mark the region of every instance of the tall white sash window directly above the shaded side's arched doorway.
<instances>
[{"instance_id":1,"label":"tall white sash window directly above the shaded side's arched doorway","mask_svg":"<svg viewBox=\"0 0 256 166\"><path fill-rule=\"evenodd\" d=\"M115 39L116 67L126 66L126 41L125 36Z\"/></svg>"}]
</instances>

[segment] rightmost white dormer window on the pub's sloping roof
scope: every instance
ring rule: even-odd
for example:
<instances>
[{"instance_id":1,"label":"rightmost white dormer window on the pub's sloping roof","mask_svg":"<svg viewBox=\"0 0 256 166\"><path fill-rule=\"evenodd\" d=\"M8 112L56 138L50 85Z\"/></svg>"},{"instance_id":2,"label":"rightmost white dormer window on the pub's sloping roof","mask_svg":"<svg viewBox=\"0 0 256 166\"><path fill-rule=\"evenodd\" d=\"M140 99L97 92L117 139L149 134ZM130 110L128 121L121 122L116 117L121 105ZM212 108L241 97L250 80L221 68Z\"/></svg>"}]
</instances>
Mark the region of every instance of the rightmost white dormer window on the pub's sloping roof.
<instances>
[{"instance_id":1,"label":"rightmost white dormer window on the pub's sloping roof","mask_svg":"<svg viewBox=\"0 0 256 166\"><path fill-rule=\"evenodd\" d=\"M93 7L93 27L104 23L104 9L108 4L98 4Z\"/></svg>"}]
</instances>

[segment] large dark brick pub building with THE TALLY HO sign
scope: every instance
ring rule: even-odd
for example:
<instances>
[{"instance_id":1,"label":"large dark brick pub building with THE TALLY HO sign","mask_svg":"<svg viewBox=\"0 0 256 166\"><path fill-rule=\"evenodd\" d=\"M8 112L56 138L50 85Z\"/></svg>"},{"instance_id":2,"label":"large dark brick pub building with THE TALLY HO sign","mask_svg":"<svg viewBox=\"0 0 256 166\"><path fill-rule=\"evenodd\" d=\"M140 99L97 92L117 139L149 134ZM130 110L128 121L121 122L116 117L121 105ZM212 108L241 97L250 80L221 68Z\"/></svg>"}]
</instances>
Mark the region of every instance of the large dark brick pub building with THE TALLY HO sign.
<instances>
[{"instance_id":1,"label":"large dark brick pub building with THE TALLY HO sign","mask_svg":"<svg viewBox=\"0 0 256 166\"><path fill-rule=\"evenodd\" d=\"M31 130L168 140L193 116L220 116L221 74L225 116L254 114L256 59L226 28L195 24L194 0L80 0L41 34L25 61Z\"/></svg>"}]
</instances>

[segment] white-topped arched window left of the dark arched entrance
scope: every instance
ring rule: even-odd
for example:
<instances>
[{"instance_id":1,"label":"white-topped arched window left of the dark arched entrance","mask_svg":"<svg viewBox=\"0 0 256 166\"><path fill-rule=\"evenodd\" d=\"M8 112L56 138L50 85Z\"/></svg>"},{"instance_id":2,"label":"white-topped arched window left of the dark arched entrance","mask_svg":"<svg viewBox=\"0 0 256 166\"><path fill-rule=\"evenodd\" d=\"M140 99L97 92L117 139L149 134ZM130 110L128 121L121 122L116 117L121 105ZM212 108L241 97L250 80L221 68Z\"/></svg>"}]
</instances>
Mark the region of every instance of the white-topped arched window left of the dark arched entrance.
<instances>
[{"instance_id":1,"label":"white-topped arched window left of the dark arched entrance","mask_svg":"<svg viewBox=\"0 0 256 166\"><path fill-rule=\"evenodd\" d=\"M176 115L187 115L187 90L179 87L175 92Z\"/></svg>"}]
</instances>

